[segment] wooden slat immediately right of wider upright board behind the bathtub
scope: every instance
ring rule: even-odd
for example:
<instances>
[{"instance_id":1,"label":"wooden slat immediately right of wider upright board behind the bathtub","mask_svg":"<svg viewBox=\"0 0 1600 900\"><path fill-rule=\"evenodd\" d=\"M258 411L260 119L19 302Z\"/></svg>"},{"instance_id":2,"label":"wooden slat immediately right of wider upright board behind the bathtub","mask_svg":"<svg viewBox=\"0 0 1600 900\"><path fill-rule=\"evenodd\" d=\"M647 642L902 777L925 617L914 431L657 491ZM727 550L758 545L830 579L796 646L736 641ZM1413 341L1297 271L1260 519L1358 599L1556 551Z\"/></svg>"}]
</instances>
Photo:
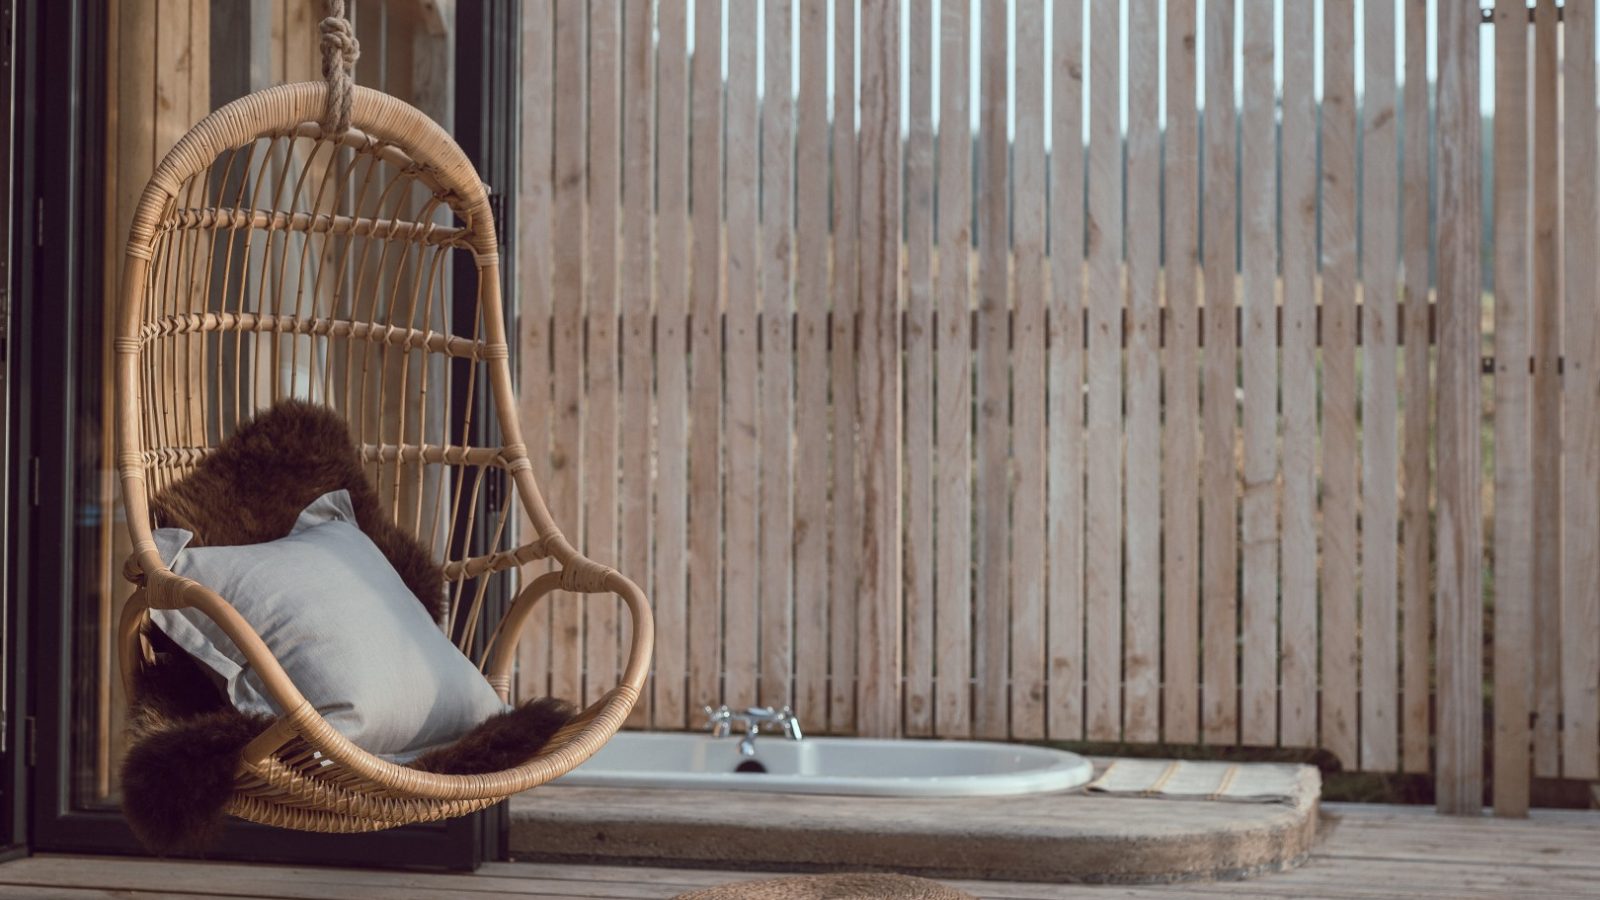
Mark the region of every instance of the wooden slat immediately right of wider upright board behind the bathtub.
<instances>
[{"instance_id":1,"label":"wooden slat immediately right of wider upright board behind the bathtub","mask_svg":"<svg viewBox=\"0 0 1600 900\"><path fill-rule=\"evenodd\" d=\"M906 143L906 733L933 733L933 5L910 3Z\"/></svg>"}]
</instances>

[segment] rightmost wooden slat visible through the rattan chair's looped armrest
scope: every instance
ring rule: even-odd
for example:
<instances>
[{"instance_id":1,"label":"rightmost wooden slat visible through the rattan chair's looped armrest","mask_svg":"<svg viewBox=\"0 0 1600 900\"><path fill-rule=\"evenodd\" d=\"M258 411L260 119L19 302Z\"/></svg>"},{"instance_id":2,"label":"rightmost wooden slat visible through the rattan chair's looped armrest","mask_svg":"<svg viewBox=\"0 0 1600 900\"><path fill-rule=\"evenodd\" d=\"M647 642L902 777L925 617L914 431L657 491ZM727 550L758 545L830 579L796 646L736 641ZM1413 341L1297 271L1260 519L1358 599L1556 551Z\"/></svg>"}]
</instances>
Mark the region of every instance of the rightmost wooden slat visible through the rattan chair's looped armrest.
<instances>
[{"instance_id":1,"label":"rightmost wooden slat visible through the rattan chair's looped armrest","mask_svg":"<svg viewBox=\"0 0 1600 900\"><path fill-rule=\"evenodd\" d=\"M584 552L616 559L616 315L621 205L621 22L616 0L589 5L589 261L584 298ZM584 601L584 703L616 685L614 602Z\"/></svg>"}]
</instances>

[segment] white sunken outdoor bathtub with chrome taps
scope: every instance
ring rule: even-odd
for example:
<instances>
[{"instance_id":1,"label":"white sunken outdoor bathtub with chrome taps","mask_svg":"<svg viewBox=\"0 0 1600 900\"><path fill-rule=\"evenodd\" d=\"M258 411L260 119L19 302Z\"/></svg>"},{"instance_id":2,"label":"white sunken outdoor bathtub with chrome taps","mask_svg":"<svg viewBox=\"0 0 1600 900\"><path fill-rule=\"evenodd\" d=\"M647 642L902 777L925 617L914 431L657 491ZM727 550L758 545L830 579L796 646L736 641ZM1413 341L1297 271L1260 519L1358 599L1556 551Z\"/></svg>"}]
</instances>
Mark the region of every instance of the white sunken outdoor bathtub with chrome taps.
<instances>
[{"instance_id":1,"label":"white sunken outdoor bathtub with chrome taps","mask_svg":"<svg viewBox=\"0 0 1600 900\"><path fill-rule=\"evenodd\" d=\"M1016 796L1066 791L1093 775L1088 759L1040 746L981 741L762 737L739 772L739 740L621 732L557 783L904 798ZM749 765L747 765L749 767Z\"/></svg>"}]
</instances>

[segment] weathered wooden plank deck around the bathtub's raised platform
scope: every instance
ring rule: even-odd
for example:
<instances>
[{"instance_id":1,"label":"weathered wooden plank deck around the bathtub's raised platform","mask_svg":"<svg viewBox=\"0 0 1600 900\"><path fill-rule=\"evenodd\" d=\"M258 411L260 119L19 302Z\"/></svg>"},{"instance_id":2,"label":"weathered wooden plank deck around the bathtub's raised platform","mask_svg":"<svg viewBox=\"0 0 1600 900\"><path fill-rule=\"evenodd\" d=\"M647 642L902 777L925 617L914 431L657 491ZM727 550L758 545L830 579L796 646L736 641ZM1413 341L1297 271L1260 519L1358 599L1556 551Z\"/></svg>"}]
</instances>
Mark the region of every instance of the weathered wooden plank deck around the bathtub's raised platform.
<instances>
[{"instance_id":1,"label":"weathered wooden plank deck around the bathtub's raised platform","mask_svg":"<svg viewBox=\"0 0 1600 900\"><path fill-rule=\"evenodd\" d=\"M1243 882L1059 886L949 881L986 900L1326 897L1600 897L1600 814L1445 818L1430 810L1333 804L1326 839L1306 865ZM694 887L768 874L494 863L475 874L171 863L110 857L34 857L0 865L0 897L262 897L296 900L667 898Z\"/></svg>"}]
</instances>

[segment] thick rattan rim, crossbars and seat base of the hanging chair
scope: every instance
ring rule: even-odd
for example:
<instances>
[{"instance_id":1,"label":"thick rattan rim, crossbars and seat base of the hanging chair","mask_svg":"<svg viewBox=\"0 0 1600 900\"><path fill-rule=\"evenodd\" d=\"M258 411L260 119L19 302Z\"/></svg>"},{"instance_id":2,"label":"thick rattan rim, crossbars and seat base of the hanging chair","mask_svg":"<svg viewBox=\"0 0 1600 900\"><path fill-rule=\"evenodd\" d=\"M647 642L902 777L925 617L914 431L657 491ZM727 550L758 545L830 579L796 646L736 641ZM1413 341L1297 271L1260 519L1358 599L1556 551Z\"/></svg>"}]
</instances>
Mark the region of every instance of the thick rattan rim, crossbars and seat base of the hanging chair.
<instances>
[{"instance_id":1,"label":"thick rattan rim, crossbars and seat base of the hanging chair","mask_svg":"<svg viewBox=\"0 0 1600 900\"><path fill-rule=\"evenodd\" d=\"M197 211L179 202L186 186L197 179L203 181L208 167L221 154L282 136L323 139L318 119L326 107L326 91L328 86L322 82L282 85L218 109L166 154L134 211L123 261L122 307L115 336L115 408L118 472L126 527L133 541L133 556L125 572L138 589L123 609L118 647L123 679L131 687L138 666L150 661L149 647L141 641L141 628L150 609L194 609L216 621L261 676L277 708L285 711L245 748L229 812L275 826L352 833L469 814L576 767L616 733L638 700L650 666L653 626L645 593L616 570L578 552L555 525L539 493L514 396L501 312L494 218L485 186L470 160L437 123L400 99L357 86L349 131L326 139L346 151L373 154L386 167L430 189L435 200L448 205L454 218L462 223L459 227L362 218L355 211L342 216L293 208L274 210L270 203L269 208L262 208L256 202L258 197L251 197L248 205L240 202L227 210ZM408 330L394 322L306 315L299 301L293 314L283 309L282 301L277 314L248 314L243 312L243 306L240 311L227 312L205 304L190 304L187 311L155 309L157 301L152 295L163 283L160 267L166 264L166 245L158 240L160 235L166 234L171 243L171 235L186 229L253 227L306 235L378 234L395 242L414 240L470 251L478 275L480 335L464 338L432 328ZM198 247L200 240L195 239L189 245L190 258L205 253L205 248ZM387 250L379 264L386 258ZM210 267L211 263L206 259L205 264ZM221 261L216 264L222 266ZM227 264L234 261L229 259ZM195 263L190 261L189 266L194 267ZM195 336L208 331L216 340L222 340L219 335L232 333L234 341L258 340L261 335L267 335L266 340L285 340L285 335L290 335L290 340L301 340L299 336L315 335L326 341L379 343L400 346L405 352L426 351L451 360L467 359L474 365L485 367L502 436L501 447L469 448L450 445L448 440L443 445L426 440L408 444L400 439L392 444L382 440L376 445L366 444L363 453L368 460L379 461L475 464L480 466L480 479L485 468L501 469L514 482L515 500L531 522L531 540L514 549L493 551L446 565L446 577L464 580L544 559L554 562L549 572L530 573L526 586L520 589L510 610L486 641L488 650L480 660L480 668L501 698L509 697L515 647L528 629L531 613L541 601L557 591L600 594L598 602L614 602L605 597L614 594L626 604L632 617L632 636L619 684L579 713L534 759L486 775L437 775L397 765L360 749L336 732L301 695L278 660L234 605L216 591L174 575L162 562L152 540L150 492L158 490L173 472L192 466L208 452L205 445L186 445L184 440L163 434L158 424L152 424L155 416L149 412L147 402L155 402L162 391L176 392L173 381L192 378L189 370L195 365L194 359L179 359L174 364L174 356L181 354L163 346L163 341L170 344L181 335ZM208 364L214 367L221 360L211 359ZM211 392L197 402L222 404L224 397L218 394L226 391ZM221 418L214 408L203 413L203 421ZM213 431L214 439L219 439L221 428L202 428L206 436ZM189 437L192 439L192 434ZM504 525L501 519L496 528ZM475 625L480 601L482 589L472 599L474 618L467 623L467 633Z\"/></svg>"}]
</instances>

